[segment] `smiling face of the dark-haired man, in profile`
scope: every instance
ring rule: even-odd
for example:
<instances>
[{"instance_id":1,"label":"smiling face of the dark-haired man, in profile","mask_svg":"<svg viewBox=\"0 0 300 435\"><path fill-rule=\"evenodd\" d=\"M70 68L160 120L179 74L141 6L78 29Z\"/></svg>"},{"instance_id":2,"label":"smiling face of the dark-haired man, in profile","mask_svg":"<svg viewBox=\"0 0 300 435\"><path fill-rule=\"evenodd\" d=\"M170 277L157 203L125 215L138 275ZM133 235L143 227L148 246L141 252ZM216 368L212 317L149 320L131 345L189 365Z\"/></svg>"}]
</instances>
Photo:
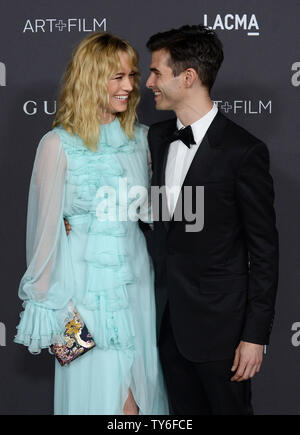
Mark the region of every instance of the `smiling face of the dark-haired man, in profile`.
<instances>
[{"instance_id":1,"label":"smiling face of the dark-haired man, in profile","mask_svg":"<svg viewBox=\"0 0 300 435\"><path fill-rule=\"evenodd\" d=\"M152 53L151 72L146 86L154 92L157 110L176 111L184 98L182 73L174 77L169 66L169 59L170 54L166 50L157 50Z\"/></svg>"}]
</instances>

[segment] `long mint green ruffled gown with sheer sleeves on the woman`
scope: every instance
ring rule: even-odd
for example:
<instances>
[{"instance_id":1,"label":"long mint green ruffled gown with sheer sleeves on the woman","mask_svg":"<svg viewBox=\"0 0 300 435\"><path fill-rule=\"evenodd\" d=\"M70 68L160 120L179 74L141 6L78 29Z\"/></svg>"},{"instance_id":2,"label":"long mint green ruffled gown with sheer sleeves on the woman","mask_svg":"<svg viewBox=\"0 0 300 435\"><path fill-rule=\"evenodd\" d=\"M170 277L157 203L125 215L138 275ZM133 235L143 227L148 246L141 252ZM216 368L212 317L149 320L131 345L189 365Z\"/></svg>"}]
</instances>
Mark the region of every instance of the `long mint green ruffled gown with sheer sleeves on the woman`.
<instances>
[{"instance_id":1,"label":"long mint green ruffled gown with sheer sleeves on the woman","mask_svg":"<svg viewBox=\"0 0 300 435\"><path fill-rule=\"evenodd\" d=\"M118 118L101 125L96 152L60 127L37 149L15 342L31 353L60 343L70 302L96 342L67 366L55 361L55 414L123 414L129 388L141 415L168 414L138 225L149 219L147 156L147 127L137 124L129 140Z\"/></svg>"}]
</instances>

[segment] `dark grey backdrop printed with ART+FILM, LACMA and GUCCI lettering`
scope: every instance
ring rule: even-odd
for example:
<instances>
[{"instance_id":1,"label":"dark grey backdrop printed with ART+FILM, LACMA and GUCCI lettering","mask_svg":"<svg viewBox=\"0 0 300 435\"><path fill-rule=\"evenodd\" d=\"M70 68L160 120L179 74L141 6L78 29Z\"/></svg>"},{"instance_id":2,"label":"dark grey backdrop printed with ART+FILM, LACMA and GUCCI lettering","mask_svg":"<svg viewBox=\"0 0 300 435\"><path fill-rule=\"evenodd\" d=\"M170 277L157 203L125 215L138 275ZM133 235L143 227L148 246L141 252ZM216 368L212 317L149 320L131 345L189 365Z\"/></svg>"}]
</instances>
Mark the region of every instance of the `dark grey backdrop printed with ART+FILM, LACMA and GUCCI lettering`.
<instances>
[{"instance_id":1,"label":"dark grey backdrop printed with ART+FILM, LACMA and GUCCI lettering","mask_svg":"<svg viewBox=\"0 0 300 435\"><path fill-rule=\"evenodd\" d=\"M300 414L300 2L289 0L0 1L0 414L53 412L54 360L15 344L25 270L29 180L51 128L60 78L76 44L94 31L129 40L140 54L139 119L166 119L145 88L150 35L203 23L223 41L212 97L267 143L280 235L280 280L271 343L253 379L256 414ZM226 325L224 325L226 328ZM201 331L199 331L201 333ZM101 393L100 393L101 394Z\"/></svg>"}]
</instances>

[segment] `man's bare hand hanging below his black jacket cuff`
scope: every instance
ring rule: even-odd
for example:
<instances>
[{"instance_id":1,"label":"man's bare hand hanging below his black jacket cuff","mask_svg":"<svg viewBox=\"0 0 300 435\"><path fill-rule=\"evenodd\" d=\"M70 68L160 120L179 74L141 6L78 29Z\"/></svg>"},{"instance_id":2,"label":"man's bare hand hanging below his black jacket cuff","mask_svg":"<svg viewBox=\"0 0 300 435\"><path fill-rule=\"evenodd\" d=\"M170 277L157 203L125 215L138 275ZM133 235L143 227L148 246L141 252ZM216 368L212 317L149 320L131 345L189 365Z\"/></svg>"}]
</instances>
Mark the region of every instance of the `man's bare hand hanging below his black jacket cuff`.
<instances>
[{"instance_id":1,"label":"man's bare hand hanging below his black jacket cuff","mask_svg":"<svg viewBox=\"0 0 300 435\"><path fill-rule=\"evenodd\" d=\"M258 373L263 359L262 344L248 343L241 341L235 351L235 357L231 371L236 370L235 375L231 381L245 381L246 379L253 378L255 373Z\"/></svg>"}]
</instances>

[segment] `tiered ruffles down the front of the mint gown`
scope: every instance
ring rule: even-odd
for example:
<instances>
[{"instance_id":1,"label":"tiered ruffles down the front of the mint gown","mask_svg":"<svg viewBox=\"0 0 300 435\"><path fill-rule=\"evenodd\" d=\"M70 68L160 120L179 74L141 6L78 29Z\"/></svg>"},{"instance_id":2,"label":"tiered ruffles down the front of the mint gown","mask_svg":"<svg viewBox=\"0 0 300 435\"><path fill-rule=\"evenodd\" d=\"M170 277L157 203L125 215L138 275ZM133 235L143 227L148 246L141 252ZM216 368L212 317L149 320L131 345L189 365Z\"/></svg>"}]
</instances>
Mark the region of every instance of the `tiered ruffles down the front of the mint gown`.
<instances>
[{"instance_id":1,"label":"tiered ruffles down the front of the mint gown","mask_svg":"<svg viewBox=\"0 0 300 435\"><path fill-rule=\"evenodd\" d=\"M116 120L114 123L118 123ZM67 183L75 189L75 201L89 204L90 223L84 254L86 292L83 301L90 310L99 312L99 328L94 340L102 349L134 349L134 323L129 304L128 285L135 282L132 259L126 249L128 221L118 219L119 211L127 213L130 201L126 173L118 153L131 153L136 146L121 128L101 127L98 151L90 151L76 136L58 128L68 157ZM117 132L117 136L116 136ZM111 134L110 134L111 133ZM100 188L113 189L107 197ZM100 190L99 190L100 189ZM121 191L122 190L122 191Z\"/></svg>"}]
</instances>

